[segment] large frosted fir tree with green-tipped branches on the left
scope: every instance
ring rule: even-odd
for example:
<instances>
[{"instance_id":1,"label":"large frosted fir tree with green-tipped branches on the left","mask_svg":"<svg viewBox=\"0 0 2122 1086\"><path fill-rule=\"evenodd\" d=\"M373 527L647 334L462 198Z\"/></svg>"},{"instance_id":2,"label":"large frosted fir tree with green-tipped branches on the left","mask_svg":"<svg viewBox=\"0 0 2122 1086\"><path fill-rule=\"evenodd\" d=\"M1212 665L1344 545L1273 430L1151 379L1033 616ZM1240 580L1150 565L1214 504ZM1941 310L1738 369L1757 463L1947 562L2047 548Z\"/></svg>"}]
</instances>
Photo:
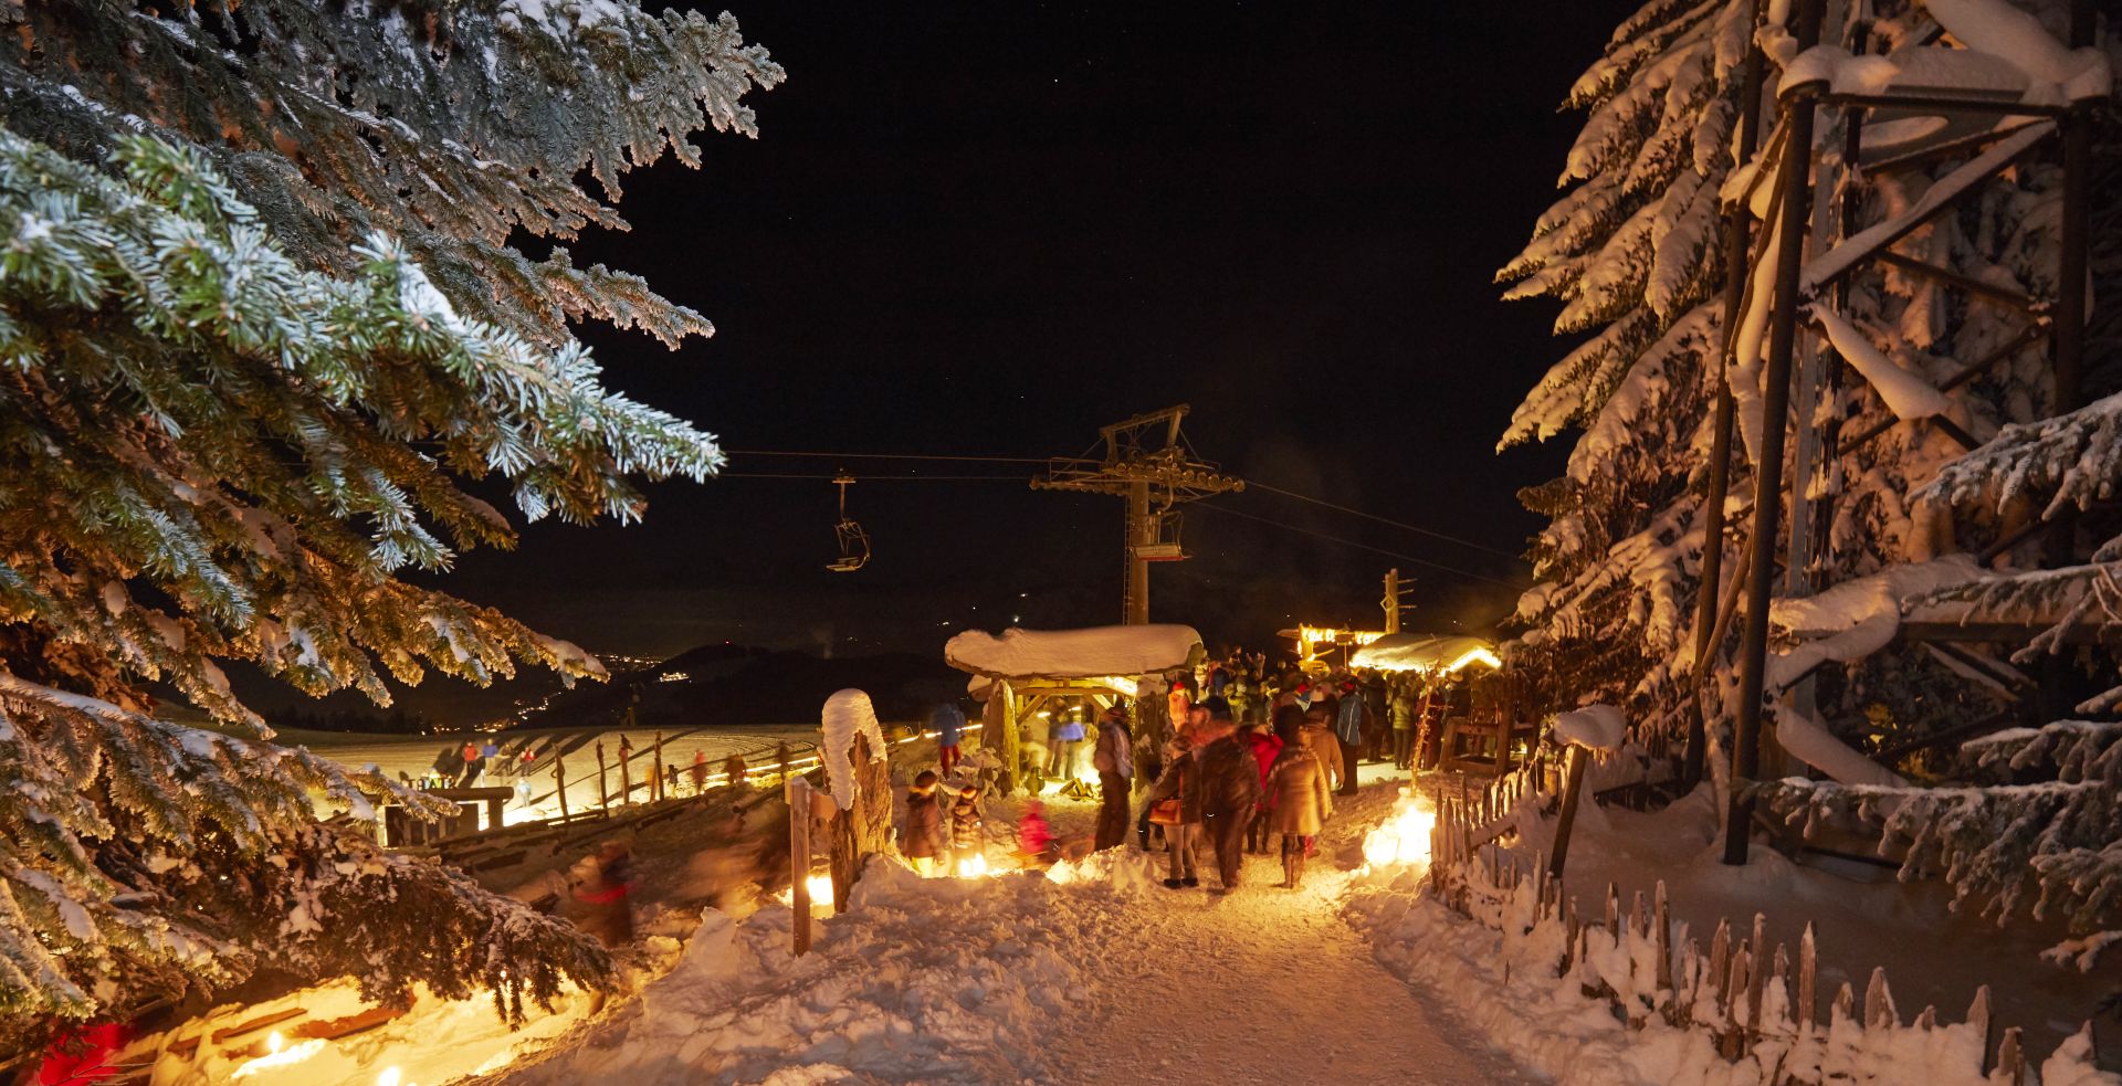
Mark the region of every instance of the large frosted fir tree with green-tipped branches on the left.
<instances>
[{"instance_id":1,"label":"large frosted fir tree with green-tipped branches on the left","mask_svg":"<svg viewBox=\"0 0 2122 1086\"><path fill-rule=\"evenodd\" d=\"M0 4L0 1056L259 969L490 991L609 959L346 819L422 806L269 742L216 660L312 694L579 649L399 579L524 518L632 520L709 435L571 320L709 325L511 235L622 227L620 176L753 132L781 70L628 0ZM151 715L180 694L227 734Z\"/></svg>"}]
</instances>

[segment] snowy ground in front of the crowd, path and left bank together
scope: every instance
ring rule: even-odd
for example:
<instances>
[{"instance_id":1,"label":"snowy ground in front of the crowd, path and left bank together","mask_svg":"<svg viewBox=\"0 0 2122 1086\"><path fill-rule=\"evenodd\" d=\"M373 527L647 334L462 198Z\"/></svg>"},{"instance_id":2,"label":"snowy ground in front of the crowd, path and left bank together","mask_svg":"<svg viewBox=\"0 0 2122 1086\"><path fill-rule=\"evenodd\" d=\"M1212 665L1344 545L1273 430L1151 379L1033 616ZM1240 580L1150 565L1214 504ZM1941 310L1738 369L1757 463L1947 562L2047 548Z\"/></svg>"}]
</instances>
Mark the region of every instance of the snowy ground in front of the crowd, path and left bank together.
<instances>
[{"instance_id":1,"label":"snowy ground in front of the crowd, path and left bank together","mask_svg":"<svg viewBox=\"0 0 2122 1086\"><path fill-rule=\"evenodd\" d=\"M1326 851L1390 800L1367 789ZM1067 834L1084 804L1048 814ZM1256 857L1212 895L1167 891L1137 851L1050 876L879 865L808 957L785 908L709 912L639 1001L482 1082L1513 1082L1339 918L1347 872L1314 868L1290 893Z\"/></svg>"}]
</instances>

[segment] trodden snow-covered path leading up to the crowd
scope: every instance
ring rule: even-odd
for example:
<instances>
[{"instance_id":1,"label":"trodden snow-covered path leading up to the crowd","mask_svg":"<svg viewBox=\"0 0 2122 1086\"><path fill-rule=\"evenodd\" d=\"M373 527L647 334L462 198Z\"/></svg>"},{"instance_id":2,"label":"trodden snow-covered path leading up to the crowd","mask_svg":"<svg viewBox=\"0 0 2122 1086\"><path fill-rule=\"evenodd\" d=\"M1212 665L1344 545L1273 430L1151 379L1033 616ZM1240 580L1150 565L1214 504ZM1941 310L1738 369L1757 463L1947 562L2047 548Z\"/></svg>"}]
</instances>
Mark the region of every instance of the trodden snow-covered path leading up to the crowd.
<instances>
[{"instance_id":1,"label":"trodden snow-covered path leading up to the crowd","mask_svg":"<svg viewBox=\"0 0 2122 1086\"><path fill-rule=\"evenodd\" d=\"M1110 999L1057 1031L1046 1080L1519 1082L1377 965L1322 893L1330 872L1297 893L1273 887L1275 861L1246 874L1227 897L1159 889L1086 925L1084 965Z\"/></svg>"}]
</instances>

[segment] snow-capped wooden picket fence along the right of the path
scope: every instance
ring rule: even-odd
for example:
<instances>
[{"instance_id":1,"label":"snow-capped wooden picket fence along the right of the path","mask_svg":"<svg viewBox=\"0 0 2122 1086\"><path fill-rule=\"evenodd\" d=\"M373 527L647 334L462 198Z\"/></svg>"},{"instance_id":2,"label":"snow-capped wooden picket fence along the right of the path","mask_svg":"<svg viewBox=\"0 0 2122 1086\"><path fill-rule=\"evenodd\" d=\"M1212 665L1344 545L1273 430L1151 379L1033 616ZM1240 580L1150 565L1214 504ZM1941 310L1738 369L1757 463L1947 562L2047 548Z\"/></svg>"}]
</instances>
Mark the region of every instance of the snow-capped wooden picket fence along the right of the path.
<instances>
[{"instance_id":1,"label":"snow-capped wooden picket fence along the right of the path","mask_svg":"<svg viewBox=\"0 0 2122 1086\"><path fill-rule=\"evenodd\" d=\"M1519 774L1513 774L1519 776ZM1819 954L1808 923L1793 952L1768 946L1768 918L1753 916L1751 931L1719 921L1710 944L1672 921L1666 884L1647 904L1636 893L1625 906L1608 884L1594 916L1579 912L1575 895L1534 861L1524 868L1502 853L1498 838L1513 812L1541 781L1498 778L1479 795L1445 798L1430 829L1430 893L1454 912L1502 935L1507 963L1526 950L1555 954L1553 978L1589 1001L1604 1003L1630 1029L1674 1029L1704 1035L1729 1063L1755 1063L1761 1082L1814 1086L1865 1082L1880 1052L1925 1056L1933 1067L1961 1067L1965 1078L1946 1082L2020 1084L2029 1056L2018 1027L1995 1037L1988 986L1976 991L1965 1020L1940 1022L1937 1008L1923 1008L1903 1022L1884 969L1874 969L1859 1003L1850 984L1833 995L1827 1018L1819 1014ZM2077 1073L2065 1082L2101 1082L2092 1063L2092 1024L2065 1044L2043 1073Z\"/></svg>"}]
</instances>

